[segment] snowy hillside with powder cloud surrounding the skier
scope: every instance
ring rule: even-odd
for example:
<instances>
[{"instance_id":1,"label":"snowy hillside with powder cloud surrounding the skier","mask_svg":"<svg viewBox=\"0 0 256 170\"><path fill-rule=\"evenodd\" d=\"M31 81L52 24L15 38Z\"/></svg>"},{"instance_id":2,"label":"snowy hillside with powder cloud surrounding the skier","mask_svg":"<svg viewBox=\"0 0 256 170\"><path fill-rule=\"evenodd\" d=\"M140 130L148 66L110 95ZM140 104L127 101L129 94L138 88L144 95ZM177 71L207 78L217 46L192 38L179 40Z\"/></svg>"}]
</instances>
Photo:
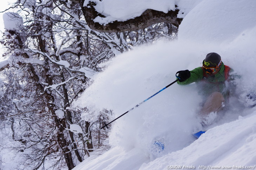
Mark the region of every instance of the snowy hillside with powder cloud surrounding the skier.
<instances>
[{"instance_id":1,"label":"snowy hillside with powder cloud surrounding the skier","mask_svg":"<svg viewBox=\"0 0 256 170\"><path fill-rule=\"evenodd\" d=\"M245 97L256 91L255 9L255 0L203 0L184 17L178 40L141 46L109 61L76 105L112 109L111 120L173 82L177 71L201 66L210 52L241 77L230 105L207 128L197 118L200 90L175 83L116 120L112 149L74 170L254 169L256 108ZM191 134L200 130L207 132L195 140ZM164 151L152 150L156 140L165 144Z\"/></svg>"}]
</instances>

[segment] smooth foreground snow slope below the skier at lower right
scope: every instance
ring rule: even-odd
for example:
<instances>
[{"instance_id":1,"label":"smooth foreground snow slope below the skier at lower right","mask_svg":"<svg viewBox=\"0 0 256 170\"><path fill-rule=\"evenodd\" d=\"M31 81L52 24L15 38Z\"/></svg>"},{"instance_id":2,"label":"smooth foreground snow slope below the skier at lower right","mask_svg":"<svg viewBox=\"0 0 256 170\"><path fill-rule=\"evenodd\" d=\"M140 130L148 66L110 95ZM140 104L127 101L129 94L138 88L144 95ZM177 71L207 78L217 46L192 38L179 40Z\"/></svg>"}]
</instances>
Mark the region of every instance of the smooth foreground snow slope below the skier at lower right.
<instances>
[{"instance_id":1,"label":"smooth foreground snow slope below the skier at lower right","mask_svg":"<svg viewBox=\"0 0 256 170\"><path fill-rule=\"evenodd\" d=\"M140 170L166 169L167 165L194 166L196 169L199 166L255 168L255 113L247 118L239 117L231 123L211 128L188 147L144 164Z\"/></svg>"}]
</instances>

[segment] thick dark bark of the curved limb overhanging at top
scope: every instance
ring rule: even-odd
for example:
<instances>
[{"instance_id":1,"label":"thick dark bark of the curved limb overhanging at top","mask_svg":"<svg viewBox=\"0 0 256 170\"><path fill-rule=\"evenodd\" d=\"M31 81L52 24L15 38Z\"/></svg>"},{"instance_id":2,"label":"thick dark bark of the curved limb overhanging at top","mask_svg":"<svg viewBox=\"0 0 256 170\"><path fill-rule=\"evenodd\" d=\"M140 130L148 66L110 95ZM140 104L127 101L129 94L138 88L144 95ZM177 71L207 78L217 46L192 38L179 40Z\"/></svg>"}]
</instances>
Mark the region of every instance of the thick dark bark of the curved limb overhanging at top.
<instances>
[{"instance_id":1,"label":"thick dark bark of the curved limb overhanging at top","mask_svg":"<svg viewBox=\"0 0 256 170\"><path fill-rule=\"evenodd\" d=\"M89 1L86 6L84 5L85 0L80 0L80 5L82 7L83 15L85 20L92 30L99 32L124 32L124 31L134 31L149 27L155 23L167 22L178 27L182 21L182 18L178 18L179 10L169 10L167 13L147 9L140 16L134 19L129 19L127 21L114 21L107 24L100 24L95 22L96 17L106 17L95 10L96 3Z\"/></svg>"}]
</instances>

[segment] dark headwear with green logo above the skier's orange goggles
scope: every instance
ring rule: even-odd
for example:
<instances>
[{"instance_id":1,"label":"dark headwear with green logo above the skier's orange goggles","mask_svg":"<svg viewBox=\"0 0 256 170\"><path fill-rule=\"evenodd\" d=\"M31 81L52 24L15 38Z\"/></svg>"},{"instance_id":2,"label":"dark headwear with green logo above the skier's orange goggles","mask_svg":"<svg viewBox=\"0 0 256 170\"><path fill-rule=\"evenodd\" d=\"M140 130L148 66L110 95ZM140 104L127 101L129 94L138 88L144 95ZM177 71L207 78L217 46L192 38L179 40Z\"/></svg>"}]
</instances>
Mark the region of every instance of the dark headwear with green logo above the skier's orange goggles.
<instances>
[{"instance_id":1,"label":"dark headwear with green logo above the skier's orange goggles","mask_svg":"<svg viewBox=\"0 0 256 170\"><path fill-rule=\"evenodd\" d=\"M206 67L218 67L221 65L221 56L215 52L206 55L206 59L203 60L203 65Z\"/></svg>"}]
</instances>

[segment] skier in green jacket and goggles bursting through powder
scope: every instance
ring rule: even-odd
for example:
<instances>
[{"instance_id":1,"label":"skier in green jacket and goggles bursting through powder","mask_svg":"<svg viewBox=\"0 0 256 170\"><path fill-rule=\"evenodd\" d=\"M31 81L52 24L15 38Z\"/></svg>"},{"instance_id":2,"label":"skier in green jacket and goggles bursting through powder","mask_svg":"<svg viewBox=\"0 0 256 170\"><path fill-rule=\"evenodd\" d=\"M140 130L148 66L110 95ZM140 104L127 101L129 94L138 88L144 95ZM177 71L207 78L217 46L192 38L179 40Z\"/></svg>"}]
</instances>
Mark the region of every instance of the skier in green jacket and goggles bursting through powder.
<instances>
[{"instance_id":1,"label":"skier in green jacket and goggles bursting through powder","mask_svg":"<svg viewBox=\"0 0 256 170\"><path fill-rule=\"evenodd\" d=\"M185 85L196 82L200 93L205 98L199 114L206 117L211 112L220 111L224 102L228 101L230 83L230 67L223 64L221 56L215 52L206 55L203 66L192 71L184 70L176 73L178 84ZM177 75L178 74L178 75ZM203 124L206 122L203 121Z\"/></svg>"}]
</instances>

